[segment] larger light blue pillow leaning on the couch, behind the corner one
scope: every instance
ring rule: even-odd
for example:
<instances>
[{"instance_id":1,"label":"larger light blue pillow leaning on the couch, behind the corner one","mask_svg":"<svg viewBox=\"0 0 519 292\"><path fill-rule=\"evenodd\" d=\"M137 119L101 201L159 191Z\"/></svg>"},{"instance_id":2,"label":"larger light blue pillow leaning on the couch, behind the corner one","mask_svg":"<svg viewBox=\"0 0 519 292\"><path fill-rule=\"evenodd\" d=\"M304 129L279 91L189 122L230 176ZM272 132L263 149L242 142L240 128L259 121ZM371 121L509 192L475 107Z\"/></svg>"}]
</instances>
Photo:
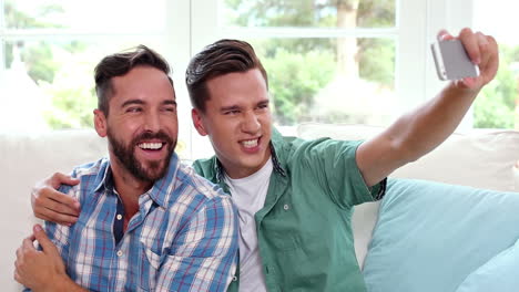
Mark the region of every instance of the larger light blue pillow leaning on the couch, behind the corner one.
<instances>
[{"instance_id":1,"label":"larger light blue pillow leaning on the couch, behind the corner one","mask_svg":"<svg viewBox=\"0 0 519 292\"><path fill-rule=\"evenodd\" d=\"M390 179L363 272L370 292L454 292L518 238L518 192Z\"/></svg>"}]
</instances>

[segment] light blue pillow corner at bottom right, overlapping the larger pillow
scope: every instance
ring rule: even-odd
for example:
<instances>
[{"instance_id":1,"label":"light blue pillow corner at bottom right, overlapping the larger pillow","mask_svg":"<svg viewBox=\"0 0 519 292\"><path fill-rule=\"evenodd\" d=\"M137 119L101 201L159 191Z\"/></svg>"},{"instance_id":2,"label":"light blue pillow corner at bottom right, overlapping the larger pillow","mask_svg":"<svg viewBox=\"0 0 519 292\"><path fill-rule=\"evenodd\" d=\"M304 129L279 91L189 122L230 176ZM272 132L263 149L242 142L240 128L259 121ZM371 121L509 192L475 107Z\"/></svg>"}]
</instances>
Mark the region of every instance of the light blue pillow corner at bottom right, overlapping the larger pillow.
<instances>
[{"instance_id":1,"label":"light blue pillow corner at bottom right, overlapping the larger pillow","mask_svg":"<svg viewBox=\"0 0 519 292\"><path fill-rule=\"evenodd\" d=\"M456 292L519 291L518 242L469 274Z\"/></svg>"}]
</instances>

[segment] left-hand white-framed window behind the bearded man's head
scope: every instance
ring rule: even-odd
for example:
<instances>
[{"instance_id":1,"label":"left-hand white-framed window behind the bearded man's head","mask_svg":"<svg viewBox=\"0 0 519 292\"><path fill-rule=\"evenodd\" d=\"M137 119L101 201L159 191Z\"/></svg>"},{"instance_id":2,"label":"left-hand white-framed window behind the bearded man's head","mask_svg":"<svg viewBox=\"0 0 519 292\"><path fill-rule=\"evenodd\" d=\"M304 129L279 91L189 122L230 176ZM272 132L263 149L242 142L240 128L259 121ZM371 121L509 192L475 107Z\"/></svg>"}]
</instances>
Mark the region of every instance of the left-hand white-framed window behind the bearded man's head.
<instances>
[{"instance_id":1,"label":"left-hand white-framed window behind the bearded man's head","mask_svg":"<svg viewBox=\"0 0 519 292\"><path fill-rule=\"evenodd\" d=\"M187 60L182 51L189 46L171 41L176 28L170 19L177 14L170 6L166 0L0 0L0 101L9 108L0 115L0 132L92 127L93 69L106 54L145 44L172 64ZM189 27L182 21L179 17L176 24ZM173 71L185 92L183 71ZM189 105L182 106L185 113ZM177 147L183 154L189 139L183 131Z\"/></svg>"}]
</instances>

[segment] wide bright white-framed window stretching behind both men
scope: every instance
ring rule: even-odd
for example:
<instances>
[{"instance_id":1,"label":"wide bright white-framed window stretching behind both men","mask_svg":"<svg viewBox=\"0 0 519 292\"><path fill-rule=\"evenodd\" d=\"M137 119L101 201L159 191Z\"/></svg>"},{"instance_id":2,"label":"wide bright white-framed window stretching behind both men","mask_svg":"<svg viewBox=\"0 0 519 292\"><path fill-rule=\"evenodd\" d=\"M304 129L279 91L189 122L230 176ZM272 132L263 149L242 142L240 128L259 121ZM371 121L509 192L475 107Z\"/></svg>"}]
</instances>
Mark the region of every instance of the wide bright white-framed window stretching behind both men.
<instances>
[{"instance_id":1,"label":"wide bright white-framed window stretching behind both men","mask_svg":"<svg viewBox=\"0 0 519 292\"><path fill-rule=\"evenodd\" d=\"M181 156L211 155L192 129L184 72L221 38L254 45L285 133L302 122L388 125L445 86L429 49L436 32L472 24L497 36L501 66L462 127L518 128L519 38L506 25L515 10L496 1L0 0L0 132L91 127L93 66L143 43L173 66Z\"/></svg>"}]
</instances>

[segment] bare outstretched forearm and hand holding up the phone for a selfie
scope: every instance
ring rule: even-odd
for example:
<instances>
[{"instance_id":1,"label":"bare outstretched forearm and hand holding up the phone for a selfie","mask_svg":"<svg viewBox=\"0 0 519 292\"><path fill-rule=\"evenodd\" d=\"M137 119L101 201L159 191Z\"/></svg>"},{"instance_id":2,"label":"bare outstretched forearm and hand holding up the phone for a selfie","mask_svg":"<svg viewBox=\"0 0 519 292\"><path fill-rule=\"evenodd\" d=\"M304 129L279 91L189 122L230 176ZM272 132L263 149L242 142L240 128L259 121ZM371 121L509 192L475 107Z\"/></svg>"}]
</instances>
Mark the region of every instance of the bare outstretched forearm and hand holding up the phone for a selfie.
<instances>
[{"instance_id":1,"label":"bare outstretched forearm and hand holding up the phone for a selfie","mask_svg":"<svg viewBox=\"0 0 519 292\"><path fill-rule=\"evenodd\" d=\"M440 40L451 38L446 31L438 34ZM441 144L459 125L481 87L496 76L499 58L493 38L470 29L461 30L458 38L480 75L451 82L435 98L363 143L356 159L368 186Z\"/></svg>"}]
</instances>

